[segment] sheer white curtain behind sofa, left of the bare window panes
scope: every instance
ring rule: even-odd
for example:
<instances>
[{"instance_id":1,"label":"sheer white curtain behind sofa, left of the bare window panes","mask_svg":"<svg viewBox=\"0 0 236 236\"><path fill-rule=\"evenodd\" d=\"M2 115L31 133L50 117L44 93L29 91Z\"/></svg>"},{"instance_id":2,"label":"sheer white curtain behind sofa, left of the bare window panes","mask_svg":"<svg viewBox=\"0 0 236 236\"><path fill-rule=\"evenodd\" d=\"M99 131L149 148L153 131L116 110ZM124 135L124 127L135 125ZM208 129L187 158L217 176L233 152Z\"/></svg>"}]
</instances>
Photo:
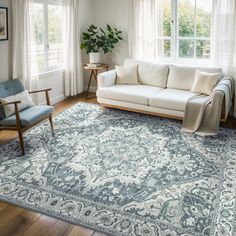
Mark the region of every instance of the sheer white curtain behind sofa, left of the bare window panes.
<instances>
[{"instance_id":1,"label":"sheer white curtain behind sofa, left of the bare window panes","mask_svg":"<svg viewBox=\"0 0 236 236\"><path fill-rule=\"evenodd\" d=\"M163 0L130 0L129 56L154 60L162 57Z\"/></svg>"}]
</instances>

